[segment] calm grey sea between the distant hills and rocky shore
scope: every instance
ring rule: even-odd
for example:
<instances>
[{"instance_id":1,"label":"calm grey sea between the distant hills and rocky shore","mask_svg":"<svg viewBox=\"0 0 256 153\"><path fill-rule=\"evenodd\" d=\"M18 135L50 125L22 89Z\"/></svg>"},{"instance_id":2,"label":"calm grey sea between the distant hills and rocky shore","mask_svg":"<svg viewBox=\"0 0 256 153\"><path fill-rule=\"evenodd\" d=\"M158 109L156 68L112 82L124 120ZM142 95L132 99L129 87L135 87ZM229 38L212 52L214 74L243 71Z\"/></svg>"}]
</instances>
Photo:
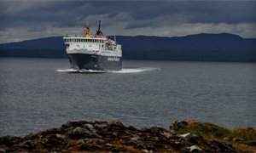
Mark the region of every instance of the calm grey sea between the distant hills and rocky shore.
<instances>
[{"instance_id":1,"label":"calm grey sea between the distant hills and rocky shore","mask_svg":"<svg viewBox=\"0 0 256 153\"><path fill-rule=\"evenodd\" d=\"M70 73L67 59L0 59L0 136L67 121L168 127L195 119L256 127L256 64L125 60L121 73Z\"/></svg>"}]
</instances>

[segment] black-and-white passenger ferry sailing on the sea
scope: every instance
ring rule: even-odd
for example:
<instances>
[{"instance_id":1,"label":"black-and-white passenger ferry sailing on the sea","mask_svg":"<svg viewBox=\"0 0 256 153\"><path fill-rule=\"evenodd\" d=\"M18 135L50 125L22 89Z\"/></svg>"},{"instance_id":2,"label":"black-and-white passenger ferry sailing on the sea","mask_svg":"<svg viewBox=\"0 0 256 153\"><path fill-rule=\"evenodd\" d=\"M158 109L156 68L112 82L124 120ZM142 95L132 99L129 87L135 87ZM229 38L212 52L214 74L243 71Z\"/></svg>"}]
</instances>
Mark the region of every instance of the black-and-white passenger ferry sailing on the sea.
<instances>
[{"instance_id":1,"label":"black-and-white passenger ferry sailing on the sea","mask_svg":"<svg viewBox=\"0 0 256 153\"><path fill-rule=\"evenodd\" d=\"M105 37L101 31L101 20L93 36L86 24L82 37L63 37L71 67L74 70L119 71L122 69L122 47Z\"/></svg>"}]
</instances>

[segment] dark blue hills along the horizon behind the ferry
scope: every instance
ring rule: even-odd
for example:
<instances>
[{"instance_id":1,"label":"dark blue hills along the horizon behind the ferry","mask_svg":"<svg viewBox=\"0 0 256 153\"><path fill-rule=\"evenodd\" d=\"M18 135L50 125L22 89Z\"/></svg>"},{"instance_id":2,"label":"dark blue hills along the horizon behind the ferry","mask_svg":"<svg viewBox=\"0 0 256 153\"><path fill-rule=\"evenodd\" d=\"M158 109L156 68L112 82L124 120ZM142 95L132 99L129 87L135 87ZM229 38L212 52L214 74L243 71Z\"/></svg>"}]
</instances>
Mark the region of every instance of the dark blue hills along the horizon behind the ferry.
<instances>
[{"instance_id":1,"label":"dark blue hills along the horizon behind the ferry","mask_svg":"<svg viewBox=\"0 0 256 153\"><path fill-rule=\"evenodd\" d=\"M256 38L229 33L185 37L117 36L117 41L122 44L124 59L256 62ZM0 44L0 56L67 57L62 37Z\"/></svg>"}]
</instances>

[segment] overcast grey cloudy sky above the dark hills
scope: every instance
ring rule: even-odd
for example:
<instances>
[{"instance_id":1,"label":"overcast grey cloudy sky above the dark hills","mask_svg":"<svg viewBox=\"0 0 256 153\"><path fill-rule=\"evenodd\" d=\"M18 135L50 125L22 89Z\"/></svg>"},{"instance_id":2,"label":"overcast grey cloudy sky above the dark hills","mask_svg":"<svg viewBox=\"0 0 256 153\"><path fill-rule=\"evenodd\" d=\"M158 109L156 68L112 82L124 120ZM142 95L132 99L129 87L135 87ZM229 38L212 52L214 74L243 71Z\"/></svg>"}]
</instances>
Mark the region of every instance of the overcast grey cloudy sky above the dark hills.
<instances>
[{"instance_id":1,"label":"overcast grey cloudy sky above the dark hills","mask_svg":"<svg viewBox=\"0 0 256 153\"><path fill-rule=\"evenodd\" d=\"M0 0L0 43L81 34L185 36L230 32L256 37L256 1Z\"/></svg>"}]
</instances>

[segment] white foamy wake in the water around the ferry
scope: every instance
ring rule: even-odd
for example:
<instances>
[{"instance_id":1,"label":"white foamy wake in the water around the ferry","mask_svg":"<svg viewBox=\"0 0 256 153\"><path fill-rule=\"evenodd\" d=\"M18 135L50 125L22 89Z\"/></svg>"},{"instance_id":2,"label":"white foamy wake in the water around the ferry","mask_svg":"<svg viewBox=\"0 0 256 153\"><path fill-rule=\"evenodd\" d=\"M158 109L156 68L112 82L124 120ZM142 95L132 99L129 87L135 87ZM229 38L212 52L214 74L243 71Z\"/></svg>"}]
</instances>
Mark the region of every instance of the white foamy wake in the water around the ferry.
<instances>
[{"instance_id":1,"label":"white foamy wake in the water around the ferry","mask_svg":"<svg viewBox=\"0 0 256 153\"><path fill-rule=\"evenodd\" d=\"M93 71L93 70L74 70L74 69L64 69L56 70L59 72L70 72L70 73L137 73L143 71L159 71L159 68L154 67L140 67L140 68L123 68L120 71Z\"/></svg>"}]
</instances>

